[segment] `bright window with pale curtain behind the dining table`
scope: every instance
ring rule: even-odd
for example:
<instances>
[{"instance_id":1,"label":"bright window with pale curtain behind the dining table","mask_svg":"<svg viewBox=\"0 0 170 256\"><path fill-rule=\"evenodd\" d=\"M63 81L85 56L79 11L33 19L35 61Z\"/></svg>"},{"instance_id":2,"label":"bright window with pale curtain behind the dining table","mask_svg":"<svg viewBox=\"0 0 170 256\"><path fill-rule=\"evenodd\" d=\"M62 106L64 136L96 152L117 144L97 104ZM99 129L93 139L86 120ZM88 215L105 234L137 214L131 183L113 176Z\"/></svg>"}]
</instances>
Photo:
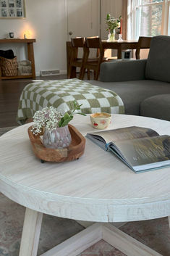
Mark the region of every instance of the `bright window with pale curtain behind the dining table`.
<instances>
[{"instance_id":1,"label":"bright window with pale curtain behind the dining table","mask_svg":"<svg viewBox=\"0 0 170 256\"><path fill-rule=\"evenodd\" d=\"M170 0L129 0L128 2L130 39L137 40L139 36L170 35Z\"/></svg>"}]
</instances>

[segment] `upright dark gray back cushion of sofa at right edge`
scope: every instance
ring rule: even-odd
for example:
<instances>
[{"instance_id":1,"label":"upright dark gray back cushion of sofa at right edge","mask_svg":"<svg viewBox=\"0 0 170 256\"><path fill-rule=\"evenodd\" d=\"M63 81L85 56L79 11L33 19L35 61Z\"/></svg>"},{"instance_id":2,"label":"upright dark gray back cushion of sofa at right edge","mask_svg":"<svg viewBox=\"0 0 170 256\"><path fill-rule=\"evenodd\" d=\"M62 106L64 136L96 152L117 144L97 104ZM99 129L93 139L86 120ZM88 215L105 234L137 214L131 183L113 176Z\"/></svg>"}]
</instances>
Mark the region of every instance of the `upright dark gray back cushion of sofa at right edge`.
<instances>
[{"instance_id":1,"label":"upright dark gray back cushion of sofa at right edge","mask_svg":"<svg viewBox=\"0 0 170 256\"><path fill-rule=\"evenodd\" d=\"M145 68L145 78L170 82L169 66L170 36L153 37Z\"/></svg>"}]
</instances>

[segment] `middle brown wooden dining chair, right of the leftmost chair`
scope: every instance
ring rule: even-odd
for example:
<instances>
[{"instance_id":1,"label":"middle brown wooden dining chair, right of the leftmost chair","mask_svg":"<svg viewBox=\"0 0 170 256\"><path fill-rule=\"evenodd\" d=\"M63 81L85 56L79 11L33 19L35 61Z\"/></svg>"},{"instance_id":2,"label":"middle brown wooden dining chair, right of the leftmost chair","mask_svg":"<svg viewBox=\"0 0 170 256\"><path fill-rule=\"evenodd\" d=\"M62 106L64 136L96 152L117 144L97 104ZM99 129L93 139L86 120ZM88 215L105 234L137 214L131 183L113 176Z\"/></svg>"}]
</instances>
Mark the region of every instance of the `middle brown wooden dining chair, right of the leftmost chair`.
<instances>
[{"instance_id":1,"label":"middle brown wooden dining chair, right of the leftmost chair","mask_svg":"<svg viewBox=\"0 0 170 256\"><path fill-rule=\"evenodd\" d=\"M96 57L93 59L89 58L90 51L92 49L96 49L97 51ZM104 54L104 50L101 43L101 38L99 38L98 36L85 38L85 59L82 64L82 76L80 79L83 80L85 76L85 70L87 69L87 70L93 70L94 80L98 80L101 62L105 61L103 59L103 54Z\"/></svg>"}]
</instances>

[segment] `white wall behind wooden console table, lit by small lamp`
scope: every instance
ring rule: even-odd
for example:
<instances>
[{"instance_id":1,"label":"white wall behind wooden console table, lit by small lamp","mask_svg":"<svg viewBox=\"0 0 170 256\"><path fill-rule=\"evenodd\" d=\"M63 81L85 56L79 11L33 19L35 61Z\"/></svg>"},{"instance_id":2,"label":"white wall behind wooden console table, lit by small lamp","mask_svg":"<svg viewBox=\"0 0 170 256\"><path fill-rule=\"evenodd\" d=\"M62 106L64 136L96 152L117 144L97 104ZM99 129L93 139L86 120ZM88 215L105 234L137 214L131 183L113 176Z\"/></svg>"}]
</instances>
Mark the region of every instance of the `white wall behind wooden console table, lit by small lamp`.
<instances>
[{"instance_id":1,"label":"white wall behind wooden console table, lit by small lamp","mask_svg":"<svg viewBox=\"0 0 170 256\"><path fill-rule=\"evenodd\" d=\"M26 19L1 19L0 38L9 32L23 38L30 30L34 44L35 70L66 70L67 17L65 0L26 0ZM13 49L19 60L25 59L25 46L0 45L1 49Z\"/></svg>"}]
</instances>

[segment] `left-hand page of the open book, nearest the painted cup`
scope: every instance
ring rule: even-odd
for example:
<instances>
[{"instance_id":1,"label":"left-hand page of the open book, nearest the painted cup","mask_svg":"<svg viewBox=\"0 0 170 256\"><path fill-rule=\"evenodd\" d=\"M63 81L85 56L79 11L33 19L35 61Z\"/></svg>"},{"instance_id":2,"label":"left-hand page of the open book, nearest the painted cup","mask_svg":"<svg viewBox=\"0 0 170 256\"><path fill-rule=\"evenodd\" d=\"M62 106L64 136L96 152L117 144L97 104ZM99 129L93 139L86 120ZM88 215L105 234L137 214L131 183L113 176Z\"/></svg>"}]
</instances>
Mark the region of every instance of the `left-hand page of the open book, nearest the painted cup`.
<instances>
[{"instance_id":1,"label":"left-hand page of the open book, nearest the painted cup","mask_svg":"<svg viewBox=\"0 0 170 256\"><path fill-rule=\"evenodd\" d=\"M158 136L158 133L150 128L131 126L110 131L99 131L90 133L90 135L101 136L108 144L109 142L127 141L132 139Z\"/></svg>"}]
</instances>

